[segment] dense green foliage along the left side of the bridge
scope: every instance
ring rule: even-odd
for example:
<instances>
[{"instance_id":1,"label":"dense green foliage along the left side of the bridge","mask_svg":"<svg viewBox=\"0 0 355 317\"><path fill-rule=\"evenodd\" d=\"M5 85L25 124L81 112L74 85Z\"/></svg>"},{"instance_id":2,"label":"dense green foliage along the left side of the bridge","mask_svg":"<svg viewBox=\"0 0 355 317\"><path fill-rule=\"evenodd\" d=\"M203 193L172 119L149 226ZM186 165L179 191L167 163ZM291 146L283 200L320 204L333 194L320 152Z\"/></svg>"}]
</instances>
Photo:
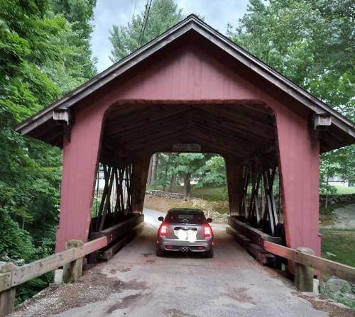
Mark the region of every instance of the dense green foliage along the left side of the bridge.
<instances>
[{"instance_id":1,"label":"dense green foliage along the left side of the bridge","mask_svg":"<svg viewBox=\"0 0 355 317\"><path fill-rule=\"evenodd\" d=\"M58 0L53 10L49 0L0 0L0 259L16 265L54 252L62 153L13 126L96 74L89 48L94 4ZM50 278L18 287L16 301Z\"/></svg>"}]
</instances>

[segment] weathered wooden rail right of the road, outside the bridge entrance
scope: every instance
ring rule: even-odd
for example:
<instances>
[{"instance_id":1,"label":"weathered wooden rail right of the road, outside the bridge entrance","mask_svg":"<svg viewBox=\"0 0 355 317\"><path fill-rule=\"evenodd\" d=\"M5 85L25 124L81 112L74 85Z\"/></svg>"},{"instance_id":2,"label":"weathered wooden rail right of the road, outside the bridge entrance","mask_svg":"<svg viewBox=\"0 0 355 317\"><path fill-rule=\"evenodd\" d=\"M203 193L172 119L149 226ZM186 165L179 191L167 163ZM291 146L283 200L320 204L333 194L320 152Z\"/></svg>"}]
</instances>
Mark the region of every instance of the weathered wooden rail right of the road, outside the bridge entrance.
<instances>
[{"instance_id":1,"label":"weathered wooden rail right of the road, outside the bridge entrance","mask_svg":"<svg viewBox=\"0 0 355 317\"><path fill-rule=\"evenodd\" d=\"M349 265L342 265L338 262L323 259L315 255L308 255L304 252L300 252L294 249L284 247L283 245L277 245L268 241L264 242L264 248L266 251L285 257L305 267L312 267L312 269L318 269L320 272L331 274L339 279L346 279L351 283L355 283L355 267L349 267Z\"/></svg>"}]
</instances>

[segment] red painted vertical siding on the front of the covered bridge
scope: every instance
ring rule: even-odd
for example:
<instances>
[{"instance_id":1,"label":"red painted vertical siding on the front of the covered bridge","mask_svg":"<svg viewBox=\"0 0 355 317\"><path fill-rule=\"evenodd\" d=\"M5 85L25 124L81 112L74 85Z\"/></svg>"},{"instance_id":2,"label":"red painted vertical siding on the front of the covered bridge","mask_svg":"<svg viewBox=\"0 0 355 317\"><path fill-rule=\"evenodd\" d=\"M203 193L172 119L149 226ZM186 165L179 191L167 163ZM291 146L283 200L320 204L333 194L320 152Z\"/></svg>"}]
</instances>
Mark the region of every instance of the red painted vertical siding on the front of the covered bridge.
<instances>
[{"instance_id":1,"label":"red painted vertical siding on the front of the covered bridge","mask_svg":"<svg viewBox=\"0 0 355 317\"><path fill-rule=\"evenodd\" d=\"M63 250L67 240L87 240L102 118L112 104L175 106L181 103L252 101L263 102L275 111L288 246L310 247L320 255L319 147L311 150L305 120L236 72L195 46L185 47L79 113L72 130L72 143L65 143L64 147L57 251Z\"/></svg>"}]
</instances>

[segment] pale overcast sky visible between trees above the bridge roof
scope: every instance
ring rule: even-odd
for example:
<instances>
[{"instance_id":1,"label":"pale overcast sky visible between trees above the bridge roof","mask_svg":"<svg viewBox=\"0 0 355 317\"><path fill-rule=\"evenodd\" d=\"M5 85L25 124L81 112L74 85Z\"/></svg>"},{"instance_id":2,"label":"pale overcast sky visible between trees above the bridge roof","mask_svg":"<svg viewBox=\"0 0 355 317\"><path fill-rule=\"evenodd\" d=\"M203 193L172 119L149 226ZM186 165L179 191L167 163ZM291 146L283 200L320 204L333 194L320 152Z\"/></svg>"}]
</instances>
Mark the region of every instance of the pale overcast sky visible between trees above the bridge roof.
<instances>
[{"instance_id":1,"label":"pale overcast sky visible between trees above the bridge roof","mask_svg":"<svg viewBox=\"0 0 355 317\"><path fill-rule=\"evenodd\" d=\"M200 13L204 21L217 28L219 32L226 33L226 24L236 26L239 18L246 13L249 0L174 0L183 13ZM94 9L94 33L92 33L93 55L99 59L97 69L102 72L111 66L111 42L109 29L112 24L126 26L129 22L129 13L140 13L144 9L146 0L97 0ZM136 10L134 10L136 7Z\"/></svg>"}]
</instances>

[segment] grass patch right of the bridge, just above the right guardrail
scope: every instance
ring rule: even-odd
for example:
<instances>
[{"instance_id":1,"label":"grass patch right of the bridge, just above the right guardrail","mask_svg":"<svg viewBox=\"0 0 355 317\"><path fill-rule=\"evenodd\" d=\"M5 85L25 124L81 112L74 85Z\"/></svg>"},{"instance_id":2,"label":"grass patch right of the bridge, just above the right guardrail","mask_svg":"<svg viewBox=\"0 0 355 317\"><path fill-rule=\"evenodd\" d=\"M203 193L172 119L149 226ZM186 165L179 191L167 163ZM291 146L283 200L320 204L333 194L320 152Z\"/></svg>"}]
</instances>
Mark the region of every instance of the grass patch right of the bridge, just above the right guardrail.
<instances>
[{"instance_id":1,"label":"grass patch right of the bridge, just above the right guardrail","mask_svg":"<svg viewBox=\"0 0 355 317\"><path fill-rule=\"evenodd\" d=\"M355 230L320 229L322 233L322 257L344 265L355 266ZM330 252L336 257L326 254ZM327 281L329 274L322 273Z\"/></svg>"}]
</instances>

